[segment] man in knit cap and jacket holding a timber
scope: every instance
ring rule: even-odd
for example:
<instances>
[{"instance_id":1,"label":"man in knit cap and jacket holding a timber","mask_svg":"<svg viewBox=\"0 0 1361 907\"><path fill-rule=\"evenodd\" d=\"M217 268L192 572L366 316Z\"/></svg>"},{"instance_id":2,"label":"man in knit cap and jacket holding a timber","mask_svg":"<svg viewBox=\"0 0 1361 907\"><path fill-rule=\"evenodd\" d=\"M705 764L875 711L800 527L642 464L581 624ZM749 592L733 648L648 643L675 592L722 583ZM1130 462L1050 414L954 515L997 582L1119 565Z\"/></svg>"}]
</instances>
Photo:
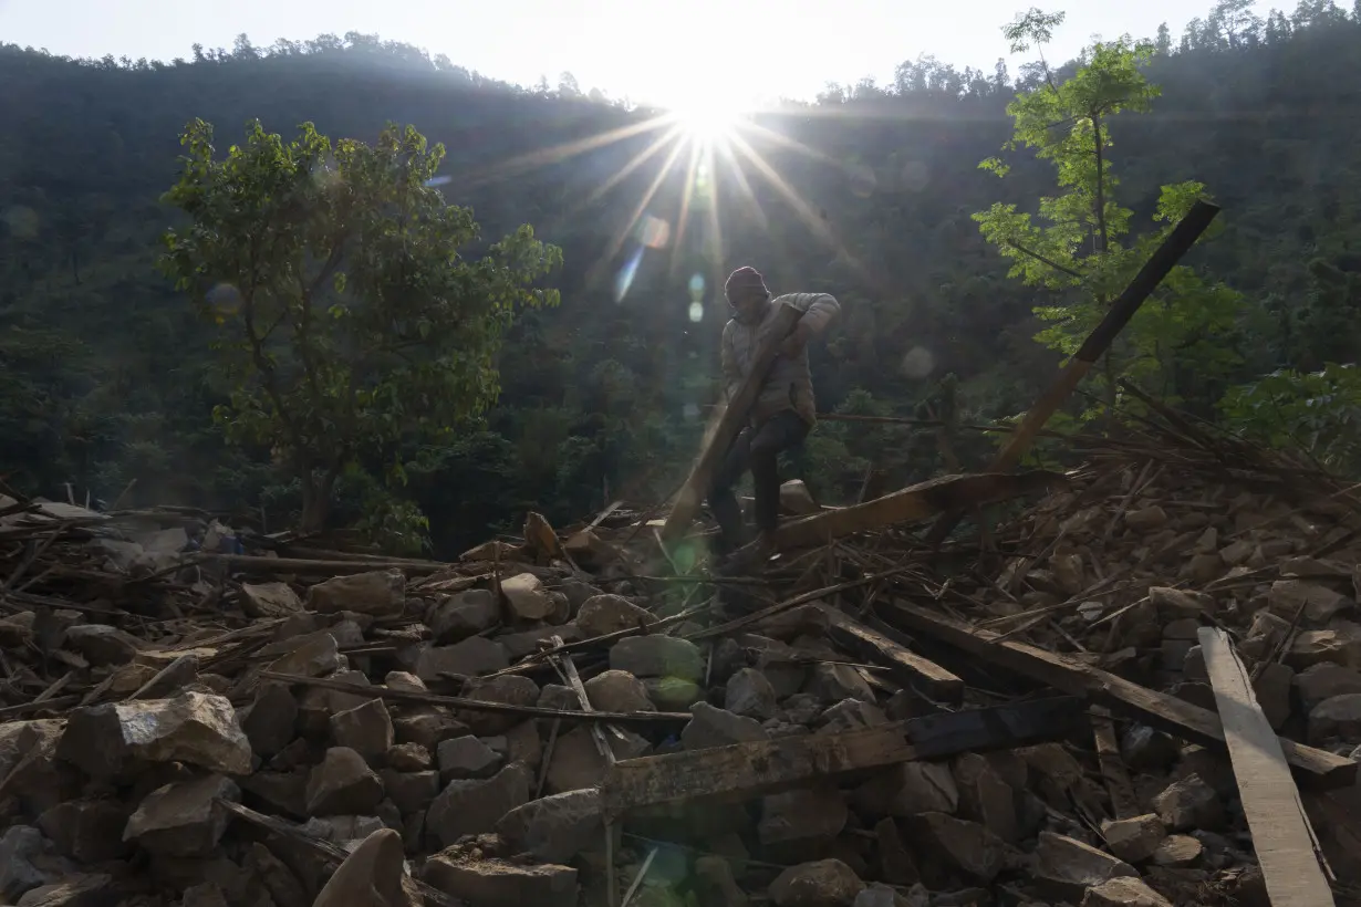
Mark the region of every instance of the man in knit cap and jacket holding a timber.
<instances>
[{"instance_id":1,"label":"man in knit cap and jacket holding a timber","mask_svg":"<svg viewBox=\"0 0 1361 907\"><path fill-rule=\"evenodd\" d=\"M723 290L732 307L732 320L723 328L723 378L729 400L751 371L780 306L792 306L803 313L780 344L780 354L761 385L749 423L734 441L709 490L709 509L720 529L715 553L724 559L742 540L742 507L732 487L742 473L751 470L758 534L751 545L738 552L736 559L754 563L769 558L774 549L773 533L780 518L780 451L807 438L817 422L808 341L826 333L841 305L825 292L791 292L772 299L765 279L755 268L738 268Z\"/></svg>"}]
</instances>

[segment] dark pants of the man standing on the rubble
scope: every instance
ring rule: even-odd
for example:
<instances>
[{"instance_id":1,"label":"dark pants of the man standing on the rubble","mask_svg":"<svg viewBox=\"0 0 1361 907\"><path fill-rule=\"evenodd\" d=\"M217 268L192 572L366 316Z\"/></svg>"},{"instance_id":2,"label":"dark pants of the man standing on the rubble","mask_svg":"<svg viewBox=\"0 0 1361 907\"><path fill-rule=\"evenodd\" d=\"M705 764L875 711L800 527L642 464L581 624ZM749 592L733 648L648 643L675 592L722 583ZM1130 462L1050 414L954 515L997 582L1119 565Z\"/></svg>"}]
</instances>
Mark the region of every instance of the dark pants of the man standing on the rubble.
<instances>
[{"instance_id":1,"label":"dark pants of the man standing on the rubble","mask_svg":"<svg viewBox=\"0 0 1361 907\"><path fill-rule=\"evenodd\" d=\"M773 532L780 521L780 453L808 437L808 423L792 409L743 428L719 465L709 488L709 509L719 521L716 552L725 555L742 544L742 506L732 487L750 469L755 485L757 529Z\"/></svg>"}]
</instances>

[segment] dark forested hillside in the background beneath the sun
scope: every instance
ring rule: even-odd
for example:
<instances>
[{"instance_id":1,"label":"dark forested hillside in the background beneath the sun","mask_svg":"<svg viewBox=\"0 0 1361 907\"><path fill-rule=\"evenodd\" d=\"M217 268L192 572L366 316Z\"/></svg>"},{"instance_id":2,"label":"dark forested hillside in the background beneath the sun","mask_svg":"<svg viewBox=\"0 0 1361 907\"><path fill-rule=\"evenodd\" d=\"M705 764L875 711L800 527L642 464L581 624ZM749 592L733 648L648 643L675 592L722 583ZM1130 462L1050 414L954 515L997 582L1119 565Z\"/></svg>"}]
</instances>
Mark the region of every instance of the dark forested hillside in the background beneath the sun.
<instances>
[{"instance_id":1,"label":"dark forested hillside in the background beneath the sun","mask_svg":"<svg viewBox=\"0 0 1361 907\"><path fill-rule=\"evenodd\" d=\"M1323 370L1353 362L1361 339L1361 0L1301 0L1267 20L1248 5L1222 0L1180 39L1150 37L1135 57L1161 95L1109 122L1131 237L1166 226L1154 222L1164 186L1202 184L1224 208L1184 262L1194 294L1150 301L1121 356L1164 397L1346 468L1339 427L1361 390ZM268 447L214 426L226 397L214 325L157 269L176 223L162 193L195 118L214 124L219 150L253 118L284 137L310 121L363 141L411 124L448 148L438 185L472 208L480 245L528 223L562 249L546 280L561 305L512 329L499 403L438 443L384 454L445 553L528 506L565 521L671 491L719 396L721 283L742 264L776 292L841 299L813 354L821 411L934 413L957 382L958 422L1014 416L1060 363L1053 330L1081 322L1085 296L1053 275L1023 280L1025 256L999 254L1022 234L996 230L1015 223L985 235L973 215L1062 194L1051 160L1002 148L1021 125L1007 112L1017 92L1075 73L923 57L891 86L832 86L705 146L568 75L525 90L358 34L268 49L242 37L173 64L0 46L0 476L24 492L72 483L108 503L227 509L271 529L298 510ZM996 155L1003 179L979 167ZM979 465L989 443L969 437L957 453ZM829 502L855 495L868 465L893 483L943 468L931 435L833 422L802 461ZM361 514L382 473L374 462L344 477L338 521Z\"/></svg>"}]
</instances>

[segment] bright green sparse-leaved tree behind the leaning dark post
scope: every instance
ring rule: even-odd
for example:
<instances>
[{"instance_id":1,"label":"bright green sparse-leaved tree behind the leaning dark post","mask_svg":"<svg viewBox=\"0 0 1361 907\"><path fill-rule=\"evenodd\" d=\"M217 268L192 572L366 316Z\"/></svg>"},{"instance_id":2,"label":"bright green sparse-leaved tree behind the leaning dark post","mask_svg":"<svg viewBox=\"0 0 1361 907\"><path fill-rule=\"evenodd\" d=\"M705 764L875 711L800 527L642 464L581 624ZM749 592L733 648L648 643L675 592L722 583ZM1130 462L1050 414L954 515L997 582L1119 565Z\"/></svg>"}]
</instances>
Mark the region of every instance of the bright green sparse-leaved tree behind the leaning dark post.
<instances>
[{"instance_id":1,"label":"bright green sparse-leaved tree behind the leaning dark post","mask_svg":"<svg viewBox=\"0 0 1361 907\"><path fill-rule=\"evenodd\" d=\"M1043 48L1062 23L1062 12L1032 8L1003 33L1013 53L1023 53ZM973 215L983 235L1013 261L1011 277L1060 294L1056 303L1034 309L1051 322L1036 339L1064 355L1077 352L1153 249L1204 194L1199 182L1162 186L1153 215L1162 226L1139 237L1130 235L1132 211L1116 201L1111 121L1149 110L1158 97L1143 72L1153 56L1150 42L1128 37L1096 42L1074 75L1056 82L1041 54L1038 84L1007 106L1014 135L1004 148L1033 148L1051 162L1059 193L1040 199L1038 223L1015 204L995 203ZM999 177L1010 171L998 158L980 166ZM1155 381L1172 398L1192 383L1221 381L1237 359L1214 336L1233 329L1240 306L1241 296L1228 287L1207 284L1185 267L1173 269L1105 356L1100 381L1106 404L1115 404L1121 374Z\"/></svg>"}]
</instances>

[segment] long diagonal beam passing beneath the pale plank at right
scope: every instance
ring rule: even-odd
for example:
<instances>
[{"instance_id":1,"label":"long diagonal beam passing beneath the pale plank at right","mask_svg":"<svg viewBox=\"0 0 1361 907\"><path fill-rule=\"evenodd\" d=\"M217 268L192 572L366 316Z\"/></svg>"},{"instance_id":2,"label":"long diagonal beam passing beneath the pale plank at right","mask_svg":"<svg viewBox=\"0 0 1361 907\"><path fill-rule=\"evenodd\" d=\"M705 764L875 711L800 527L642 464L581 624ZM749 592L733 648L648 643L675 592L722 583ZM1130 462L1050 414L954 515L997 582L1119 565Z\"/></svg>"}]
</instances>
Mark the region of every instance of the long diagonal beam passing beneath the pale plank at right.
<instances>
[{"instance_id":1,"label":"long diagonal beam passing beneath the pale plank at right","mask_svg":"<svg viewBox=\"0 0 1361 907\"><path fill-rule=\"evenodd\" d=\"M1087 696L1183 740L1225 748L1219 715L1176 696L1141 687L1074 658L1011 639L1000 639L995 632L942 617L902 600L881 605L879 613L890 624L934 636L970 655L1066 694ZM1286 760L1294 767L1296 776L1301 782L1317 789L1350 787L1356 782L1357 763L1346 756L1335 756L1283 737L1279 740Z\"/></svg>"}]
</instances>

